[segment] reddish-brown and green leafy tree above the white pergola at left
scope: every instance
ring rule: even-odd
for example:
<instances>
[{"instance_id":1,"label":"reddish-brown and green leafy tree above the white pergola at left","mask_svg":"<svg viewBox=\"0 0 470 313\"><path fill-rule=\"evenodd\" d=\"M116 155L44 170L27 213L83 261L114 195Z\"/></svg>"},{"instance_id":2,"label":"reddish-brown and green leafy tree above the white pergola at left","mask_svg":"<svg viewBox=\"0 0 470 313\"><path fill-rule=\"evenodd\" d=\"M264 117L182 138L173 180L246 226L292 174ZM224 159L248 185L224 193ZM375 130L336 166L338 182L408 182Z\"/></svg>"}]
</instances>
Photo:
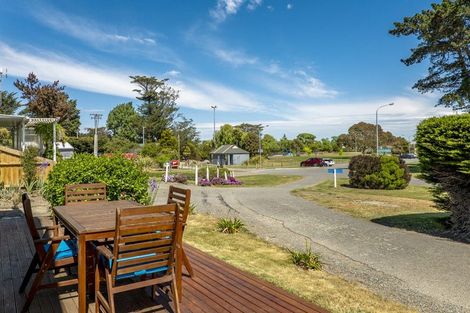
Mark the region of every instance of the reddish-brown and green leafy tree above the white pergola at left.
<instances>
[{"instance_id":1,"label":"reddish-brown and green leafy tree above the white pergola at left","mask_svg":"<svg viewBox=\"0 0 470 313\"><path fill-rule=\"evenodd\" d=\"M76 100L69 99L64 86L59 81L43 85L39 79L30 73L21 81L17 79L15 87L21 92L21 98L26 101L22 111L31 117L56 117L67 135L74 135L80 129L80 111Z\"/></svg>"}]
</instances>

